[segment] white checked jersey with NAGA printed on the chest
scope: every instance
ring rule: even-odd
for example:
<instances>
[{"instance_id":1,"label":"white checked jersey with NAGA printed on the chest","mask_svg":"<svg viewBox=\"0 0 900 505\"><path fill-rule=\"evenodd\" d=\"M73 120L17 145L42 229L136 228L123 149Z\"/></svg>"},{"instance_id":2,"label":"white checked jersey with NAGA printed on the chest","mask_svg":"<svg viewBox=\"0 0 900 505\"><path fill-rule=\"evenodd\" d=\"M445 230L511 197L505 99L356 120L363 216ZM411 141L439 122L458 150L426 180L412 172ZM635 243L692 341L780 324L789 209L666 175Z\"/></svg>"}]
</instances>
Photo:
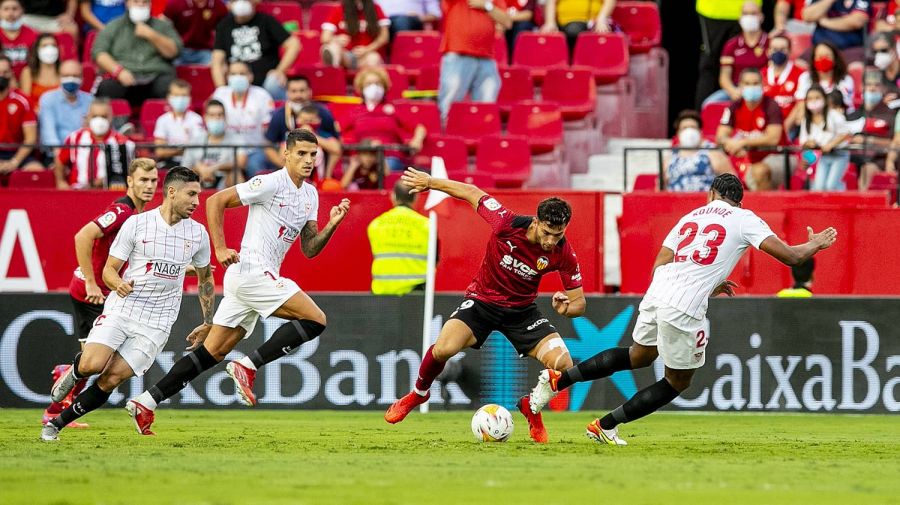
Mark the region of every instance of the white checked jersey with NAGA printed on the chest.
<instances>
[{"instance_id":1,"label":"white checked jersey with NAGA printed on the chest","mask_svg":"<svg viewBox=\"0 0 900 505\"><path fill-rule=\"evenodd\" d=\"M168 332L181 308L188 264L206 267L209 254L209 235L193 219L169 226L158 208L129 217L109 255L128 262L122 279L133 280L134 291L125 298L110 293L103 313Z\"/></svg>"}]
</instances>

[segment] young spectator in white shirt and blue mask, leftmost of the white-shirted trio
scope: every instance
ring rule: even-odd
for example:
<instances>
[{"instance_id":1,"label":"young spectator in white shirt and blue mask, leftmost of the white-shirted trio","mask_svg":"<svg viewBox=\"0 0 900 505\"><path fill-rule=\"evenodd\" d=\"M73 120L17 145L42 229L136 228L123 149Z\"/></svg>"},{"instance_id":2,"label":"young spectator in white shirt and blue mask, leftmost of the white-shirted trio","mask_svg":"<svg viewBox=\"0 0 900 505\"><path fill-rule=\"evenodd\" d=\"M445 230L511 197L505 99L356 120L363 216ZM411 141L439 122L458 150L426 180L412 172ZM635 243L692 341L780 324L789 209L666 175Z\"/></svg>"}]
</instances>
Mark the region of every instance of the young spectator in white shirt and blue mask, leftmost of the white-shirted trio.
<instances>
[{"instance_id":1,"label":"young spectator in white shirt and blue mask, leftmost of the white-shirted trio","mask_svg":"<svg viewBox=\"0 0 900 505\"><path fill-rule=\"evenodd\" d=\"M169 111L156 120L153 142L165 146L183 146L190 143L191 138L203 130L203 118L188 109L191 105L191 84L182 79L172 81L166 101L169 103ZM184 147L156 148L160 168L181 165L183 153Z\"/></svg>"}]
</instances>

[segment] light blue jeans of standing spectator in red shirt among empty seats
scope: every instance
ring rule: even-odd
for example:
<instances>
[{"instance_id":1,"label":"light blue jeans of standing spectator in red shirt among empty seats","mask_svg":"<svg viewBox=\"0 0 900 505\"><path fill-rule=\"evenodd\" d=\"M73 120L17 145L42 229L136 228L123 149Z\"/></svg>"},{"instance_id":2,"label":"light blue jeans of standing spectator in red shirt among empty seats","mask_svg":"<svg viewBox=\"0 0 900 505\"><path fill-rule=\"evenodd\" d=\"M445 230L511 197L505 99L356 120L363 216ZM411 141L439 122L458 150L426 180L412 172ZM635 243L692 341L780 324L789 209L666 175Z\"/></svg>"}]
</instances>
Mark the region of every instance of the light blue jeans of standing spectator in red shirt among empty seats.
<instances>
[{"instance_id":1,"label":"light blue jeans of standing spectator in red shirt among empty seats","mask_svg":"<svg viewBox=\"0 0 900 505\"><path fill-rule=\"evenodd\" d=\"M438 106L441 118L447 120L450 105L460 102L466 95L474 102L495 102L500 92L500 72L492 58L475 58L447 53L441 58L441 84L438 89Z\"/></svg>"}]
</instances>

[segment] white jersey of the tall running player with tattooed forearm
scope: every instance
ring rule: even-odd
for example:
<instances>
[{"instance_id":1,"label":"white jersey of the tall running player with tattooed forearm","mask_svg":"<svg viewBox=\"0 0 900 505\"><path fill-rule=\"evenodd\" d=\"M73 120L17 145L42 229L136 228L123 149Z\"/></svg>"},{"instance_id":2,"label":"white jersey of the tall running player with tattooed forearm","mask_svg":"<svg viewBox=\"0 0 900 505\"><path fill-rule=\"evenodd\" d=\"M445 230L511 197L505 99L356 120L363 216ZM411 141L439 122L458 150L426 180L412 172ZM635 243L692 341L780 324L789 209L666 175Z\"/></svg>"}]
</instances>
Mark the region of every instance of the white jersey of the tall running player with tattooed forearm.
<instances>
[{"instance_id":1,"label":"white jersey of the tall running player with tattooed forearm","mask_svg":"<svg viewBox=\"0 0 900 505\"><path fill-rule=\"evenodd\" d=\"M241 202L250 206L250 213L241 241L241 260L228 268L278 277L284 256L300 238L306 222L317 220L319 194L307 182L298 188L286 168L258 175L235 188Z\"/></svg>"}]
</instances>

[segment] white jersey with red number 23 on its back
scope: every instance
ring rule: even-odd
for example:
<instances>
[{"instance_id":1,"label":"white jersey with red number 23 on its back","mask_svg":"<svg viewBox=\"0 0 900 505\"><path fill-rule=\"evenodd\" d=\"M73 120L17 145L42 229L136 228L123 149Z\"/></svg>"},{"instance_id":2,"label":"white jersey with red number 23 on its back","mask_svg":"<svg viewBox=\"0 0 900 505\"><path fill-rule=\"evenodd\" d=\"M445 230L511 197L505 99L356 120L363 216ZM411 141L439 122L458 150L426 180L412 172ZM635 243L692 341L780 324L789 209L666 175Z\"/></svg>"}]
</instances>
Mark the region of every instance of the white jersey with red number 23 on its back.
<instances>
[{"instance_id":1,"label":"white jersey with red number 23 on its back","mask_svg":"<svg viewBox=\"0 0 900 505\"><path fill-rule=\"evenodd\" d=\"M714 200L681 218L663 241L675 260L656 269L647 296L703 319L709 296L725 281L748 246L774 235L752 211Z\"/></svg>"}]
</instances>

